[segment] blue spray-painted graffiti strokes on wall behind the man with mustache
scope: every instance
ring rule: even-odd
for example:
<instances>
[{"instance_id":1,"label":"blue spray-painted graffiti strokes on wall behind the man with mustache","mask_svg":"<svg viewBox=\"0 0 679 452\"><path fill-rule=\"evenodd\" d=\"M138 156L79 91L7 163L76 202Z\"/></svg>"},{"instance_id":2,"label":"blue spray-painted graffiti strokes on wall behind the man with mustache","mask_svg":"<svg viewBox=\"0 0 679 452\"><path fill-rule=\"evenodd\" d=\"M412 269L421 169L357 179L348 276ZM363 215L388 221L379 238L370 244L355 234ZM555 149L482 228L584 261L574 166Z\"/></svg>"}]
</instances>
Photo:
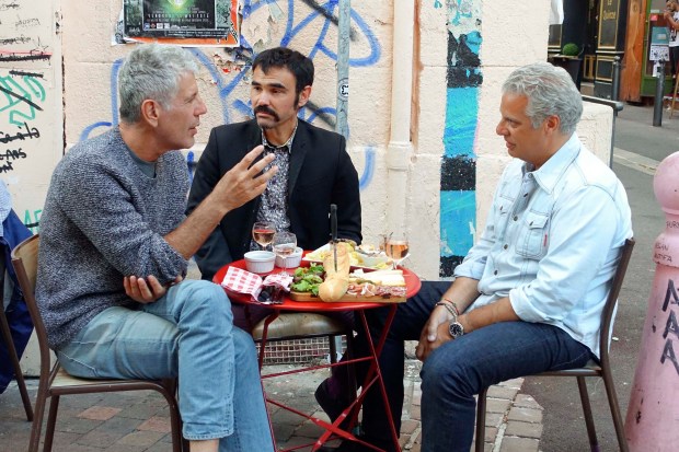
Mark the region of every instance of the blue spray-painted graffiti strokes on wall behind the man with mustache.
<instances>
[{"instance_id":1,"label":"blue spray-painted graffiti strokes on wall behind the man with mustache","mask_svg":"<svg viewBox=\"0 0 679 452\"><path fill-rule=\"evenodd\" d=\"M299 2L299 1L298 1ZM311 8L311 12L308 13L301 21L295 25L295 0L288 0L288 14L286 21L286 28L280 39L279 45L281 46L290 46L295 38L307 32L307 28L311 25L317 27L317 21L324 21L320 27L320 33L314 44L308 50L307 55L309 58L314 59L317 54L326 55L332 60L337 60L337 55L330 47L325 45L325 40L327 37L327 32L331 25L337 25L337 19L333 15L335 9L338 7L338 0L330 0L324 4L320 4L312 0L303 0L303 2ZM252 1L244 0L243 1L243 24L248 23L249 18L254 14L261 8L269 8L269 5L277 5L277 1L274 0L261 0L261 1ZM362 18L354 10L352 10L352 34L350 38L353 42L365 40L367 43L367 48L369 49L368 55L361 57L349 58L349 66L352 67L367 67L377 63L381 56L381 47L377 39L377 36L370 30L368 24L362 20ZM358 32L356 31L358 30ZM254 44L254 43L253 43ZM272 47L274 44L272 43ZM295 46L298 50L304 51L303 48L299 48L299 46ZM191 49L193 55L197 58L199 63L204 66L216 83L217 92L219 93L219 100L221 103L221 113L222 120L225 124L231 123L231 113L239 113L241 115L251 115L252 107L250 102L244 102L241 98L232 98L233 91L235 88L243 81L243 79L248 74L248 70L250 68L250 63L254 58L254 51L251 43L248 43L245 38L241 38L241 47L237 49L225 49L226 53L234 53L235 56L240 60L244 60L245 65L242 71L231 72L233 78L227 83L223 80L223 74L217 69L214 61L205 55L199 49ZM118 71L120 69L122 60L116 60L113 63L113 68L111 71L111 121L107 120L97 120L89 126L87 126L82 132L80 134L80 140L88 139L94 130L99 128L108 128L112 126L116 126L118 124L118 105L117 105L117 77ZM334 117L336 116L336 111L334 107L325 106L319 107L313 103L307 104L299 112L299 117L308 120L309 123L313 123L314 120L322 120L330 126L334 126ZM361 182L366 185L371 179L371 176L375 172L375 159L370 157L371 148L366 149L366 166L364 170L364 174L361 175ZM375 152L372 150L372 152ZM191 154L193 155L193 154ZM193 163L192 163L193 164ZM187 165L191 167L192 164L187 162ZM189 171L191 174L191 171ZM361 185L362 187L364 185Z\"/></svg>"}]
</instances>

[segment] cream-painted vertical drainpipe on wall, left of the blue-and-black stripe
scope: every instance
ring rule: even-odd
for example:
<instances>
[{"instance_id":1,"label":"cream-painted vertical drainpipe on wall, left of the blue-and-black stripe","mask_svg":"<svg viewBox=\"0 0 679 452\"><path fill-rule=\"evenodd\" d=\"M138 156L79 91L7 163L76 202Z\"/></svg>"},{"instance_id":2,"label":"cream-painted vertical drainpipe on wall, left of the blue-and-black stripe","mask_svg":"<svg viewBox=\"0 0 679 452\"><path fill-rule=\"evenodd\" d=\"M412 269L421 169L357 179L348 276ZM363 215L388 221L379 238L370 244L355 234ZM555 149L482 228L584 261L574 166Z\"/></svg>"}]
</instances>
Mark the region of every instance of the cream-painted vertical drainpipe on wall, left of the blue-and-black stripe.
<instances>
[{"instance_id":1,"label":"cream-painted vertical drainpipe on wall, left of the blue-and-black stripe","mask_svg":"<svg viewBox=\"0 0 679 452\"><path fill-rule=\"evenodd\" d=\"M387 230L406 232L406 194L411 141L411 101L413 95L414 0L393 2L393 68L391 79L391 136L387 147Z\"/></svg>"}]
</instances>

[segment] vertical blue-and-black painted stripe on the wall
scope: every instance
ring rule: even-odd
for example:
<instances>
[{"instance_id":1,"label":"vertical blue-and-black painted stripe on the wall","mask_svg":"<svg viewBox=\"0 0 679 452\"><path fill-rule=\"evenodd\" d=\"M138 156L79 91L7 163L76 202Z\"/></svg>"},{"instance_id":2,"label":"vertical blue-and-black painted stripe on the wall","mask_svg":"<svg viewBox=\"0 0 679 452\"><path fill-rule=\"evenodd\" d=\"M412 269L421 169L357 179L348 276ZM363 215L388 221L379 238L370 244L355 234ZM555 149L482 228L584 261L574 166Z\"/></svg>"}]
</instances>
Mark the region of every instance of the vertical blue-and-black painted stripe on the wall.
<instances>
[{"instance_id":1,"label":"vertical blue-and-black painted stripe on the wall","mask_svg":"<svg viewBox=\"0 0 679 452\"><path fill-rule=\"evenodd\" d=\"M448 73L440 197L441 277L450 277L474 243L474 141L481 73L481 0L448 0Z\"/></svg>"}]
</instances>

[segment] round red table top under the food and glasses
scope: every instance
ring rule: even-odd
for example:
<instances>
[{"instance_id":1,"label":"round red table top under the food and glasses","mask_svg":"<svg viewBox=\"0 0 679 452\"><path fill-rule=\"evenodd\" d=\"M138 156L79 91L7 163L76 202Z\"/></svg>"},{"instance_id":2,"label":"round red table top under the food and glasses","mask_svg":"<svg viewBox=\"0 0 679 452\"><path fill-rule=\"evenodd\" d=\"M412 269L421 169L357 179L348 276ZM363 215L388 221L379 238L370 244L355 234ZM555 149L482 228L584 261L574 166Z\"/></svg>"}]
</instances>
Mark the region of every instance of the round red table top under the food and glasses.
<instances>
[{"instance_id":1,"label":"round red table top under the food and glasses","mask_svg":"<svg viewBox=\"0 0 679 452\"><path fill-rule=\"evenodd\" d=\"M227 275L227 270L231 266L245 269L245 259L235 260L235 262L232 262L231 264L227 264L223 267L221 267L215 274L215 277L212 278L212 282L218 283L218 285L221 283L221 281L225 279L225 276ZM308 266L309 266L309 262L307 260L302 260L302 263L300 264L300 267L308 267ZM410 297L415 295L419 291L419 288L422 287L422 282L419 281L419 278L417 277L417 275L415 275L413 271L408 270L407 268L404 268L404 267L399 267L399 268L403 270L403 279L405 279L405 297L410 298ZM292 269L289 269L289 270L292 270ZM280 271L280 269L278 267L275 267L273 271ZM264 278L266 275L268 274L261 274L260 276ZM235 303L253 304L257 306L265 305L267 308L275 309L275 310L281 310L281 311L354 311L354 310L383 308L389 304L392 304L389 302L376 302L376 301L360 300L359 298L357 298L356 301L344 301L344 302L324 302L320 300L319 301L295 301L295 300L290 300L287 295L284 298L283 304L262 304L256 301L252 301L252 299L248 294L233 292L226 288L225 290L229 294L229 299Z\"/></svg>"}]
</instances>

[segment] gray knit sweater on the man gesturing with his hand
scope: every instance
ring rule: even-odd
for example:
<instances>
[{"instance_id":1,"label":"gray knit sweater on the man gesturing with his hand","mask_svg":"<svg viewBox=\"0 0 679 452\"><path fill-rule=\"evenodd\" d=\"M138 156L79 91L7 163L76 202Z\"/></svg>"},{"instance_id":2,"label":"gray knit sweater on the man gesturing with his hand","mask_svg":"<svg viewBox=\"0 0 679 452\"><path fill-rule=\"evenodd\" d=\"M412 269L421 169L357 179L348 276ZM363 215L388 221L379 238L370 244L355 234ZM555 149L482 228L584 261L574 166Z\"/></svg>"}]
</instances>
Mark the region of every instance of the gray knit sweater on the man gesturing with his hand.
<instances>
[{"instance_id":1,"label":"gray knit sweater on the man gesturing with his hand","mask_svg":"<svg viewBox=\"0 0 679 452\"><path fill-rule=\"evenodd\" d=\"M166 283L186 273L186 260L163 236L184 219L187 190L179 151L162 155L148 177L117 128L64 157L41 217L36 283L51 348L107 308L134 308L124 276L154 275Z\"/></svg>"}]
</instances>

